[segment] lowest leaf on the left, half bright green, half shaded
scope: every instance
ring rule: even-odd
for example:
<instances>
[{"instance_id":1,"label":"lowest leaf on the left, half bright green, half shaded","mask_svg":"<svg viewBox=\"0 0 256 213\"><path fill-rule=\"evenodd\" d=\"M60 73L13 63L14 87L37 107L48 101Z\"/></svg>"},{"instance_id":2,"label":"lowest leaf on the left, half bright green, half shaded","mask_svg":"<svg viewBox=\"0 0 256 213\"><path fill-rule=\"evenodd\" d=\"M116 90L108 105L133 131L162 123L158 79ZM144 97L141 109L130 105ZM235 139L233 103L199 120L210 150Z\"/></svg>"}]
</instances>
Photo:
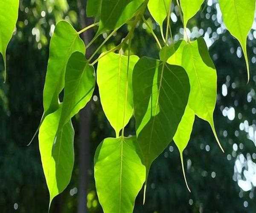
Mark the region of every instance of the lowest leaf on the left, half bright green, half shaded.
<instances>
[{"instance_id":1,"label":"lowest leaf on the left, half bright green, half shaded","mask_svg":"<svg viewBox=\"0 0 256 213\"><path fill-rule=\"evenodd\" d=\"M74 165L74 130L68 121L62 131L55 135L61 117L62 107L45 117L39 130L39 150L41 161L52 199L61 193L69 184Z\"/></svg>"}]
</instances>

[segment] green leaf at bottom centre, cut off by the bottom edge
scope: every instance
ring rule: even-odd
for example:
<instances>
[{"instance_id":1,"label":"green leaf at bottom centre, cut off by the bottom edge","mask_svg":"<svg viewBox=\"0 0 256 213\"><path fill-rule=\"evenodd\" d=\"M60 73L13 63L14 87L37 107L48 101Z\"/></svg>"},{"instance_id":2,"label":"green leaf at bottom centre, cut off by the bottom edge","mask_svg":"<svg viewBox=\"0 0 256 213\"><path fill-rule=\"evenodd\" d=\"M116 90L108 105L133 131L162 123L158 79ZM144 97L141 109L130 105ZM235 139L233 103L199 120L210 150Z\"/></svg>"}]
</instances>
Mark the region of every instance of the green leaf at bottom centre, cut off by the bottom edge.
<instances>
[{"instance_id":1,"label":"green leaf at bottom centre, cut off by the bottom edge","mask_svg":"<svg viewBox=\"0 0 256 213\"><path fill-rule=\"evenodd\" d=\"M102 141L94 157L94 176L104 213L132 213L145 181L136 137Z\"/></svg>"}]
</instances>

